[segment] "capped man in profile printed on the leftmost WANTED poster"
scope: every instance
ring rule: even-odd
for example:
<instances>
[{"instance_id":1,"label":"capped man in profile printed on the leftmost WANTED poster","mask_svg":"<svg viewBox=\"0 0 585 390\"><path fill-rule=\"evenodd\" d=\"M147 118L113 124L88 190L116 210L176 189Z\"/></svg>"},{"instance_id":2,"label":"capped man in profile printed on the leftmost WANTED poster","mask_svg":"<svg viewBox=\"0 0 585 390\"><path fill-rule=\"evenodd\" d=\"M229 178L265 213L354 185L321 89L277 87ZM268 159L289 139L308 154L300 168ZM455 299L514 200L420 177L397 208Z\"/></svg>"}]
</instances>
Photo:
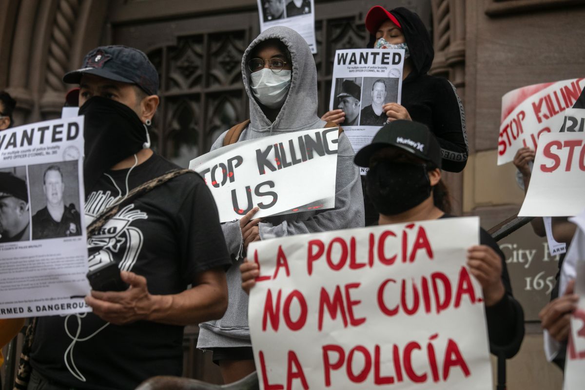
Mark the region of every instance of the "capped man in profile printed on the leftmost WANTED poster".
<instances>
[{"instance_id":1,"label":"capped man in profile printed on the leftmost WANTED poster","mask_svg":"<svg viewBox=\"0 0 585 390\"><path fill-rule=\"evenodd\" d=\"M0 243L29 239L26 182L11 173L0 172Z\"/></svg>"}]
</instances>

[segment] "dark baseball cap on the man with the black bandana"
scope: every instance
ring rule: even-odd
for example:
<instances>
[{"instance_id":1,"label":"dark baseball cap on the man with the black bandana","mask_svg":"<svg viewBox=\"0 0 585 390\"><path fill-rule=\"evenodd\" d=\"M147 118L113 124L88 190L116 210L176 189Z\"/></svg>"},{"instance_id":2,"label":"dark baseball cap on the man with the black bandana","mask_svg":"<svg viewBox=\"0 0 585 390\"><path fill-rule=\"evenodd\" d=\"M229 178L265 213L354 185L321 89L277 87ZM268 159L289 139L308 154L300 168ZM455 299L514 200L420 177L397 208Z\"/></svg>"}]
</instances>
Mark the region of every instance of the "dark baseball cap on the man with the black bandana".
<instances>
[{"instance_id":1,"label":"dark baseball cap on the man with the black bandana","mask_svg":"<svg viewBox=\"0 0 585 390\"><path fill-rule=\"evenodd\" d=\"M63 76L67 84L79 84L81 75L93 74L108 80L128 82L148 95L159 91L159 74L146 54L127 46L100 46L87 53L80 69Z\"/></svg>"}]
</instances>

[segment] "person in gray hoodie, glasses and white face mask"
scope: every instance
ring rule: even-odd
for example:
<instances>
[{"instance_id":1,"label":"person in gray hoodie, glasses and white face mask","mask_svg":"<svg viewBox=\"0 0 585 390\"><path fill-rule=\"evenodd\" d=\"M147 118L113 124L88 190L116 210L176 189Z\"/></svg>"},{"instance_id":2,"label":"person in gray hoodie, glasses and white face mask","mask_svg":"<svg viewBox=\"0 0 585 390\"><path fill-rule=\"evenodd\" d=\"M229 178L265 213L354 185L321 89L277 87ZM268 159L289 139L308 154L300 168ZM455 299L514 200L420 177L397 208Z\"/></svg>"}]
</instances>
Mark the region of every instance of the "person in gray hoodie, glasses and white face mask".
<instances>
[{"instance_id":1,"label":"person in gray hoodie, glasses and white face mask","mask_svg":"<svg viewBox=\"0 0 585 390\"><path fill-rule=\"evenodd\" d=\"M294 30L271 27L254 39L242 58L242 78L250 98L250 123L239 141L325 127L326 122L317 115L315 61L307 42ZM219 136L211 150L223 146L226 133ZM219 364L226 383L255 370L247 319L248 296L241 288L239 270L247 244L273 237L364 226L362 185L353 157L352 146L341 133L335 209L250 220L257 210L254 208L241 220L222 225L233 259L227 274L228 310L222 319L199 325L197 347L213 351L213 360Z\"/></svg>"}]
</instances>

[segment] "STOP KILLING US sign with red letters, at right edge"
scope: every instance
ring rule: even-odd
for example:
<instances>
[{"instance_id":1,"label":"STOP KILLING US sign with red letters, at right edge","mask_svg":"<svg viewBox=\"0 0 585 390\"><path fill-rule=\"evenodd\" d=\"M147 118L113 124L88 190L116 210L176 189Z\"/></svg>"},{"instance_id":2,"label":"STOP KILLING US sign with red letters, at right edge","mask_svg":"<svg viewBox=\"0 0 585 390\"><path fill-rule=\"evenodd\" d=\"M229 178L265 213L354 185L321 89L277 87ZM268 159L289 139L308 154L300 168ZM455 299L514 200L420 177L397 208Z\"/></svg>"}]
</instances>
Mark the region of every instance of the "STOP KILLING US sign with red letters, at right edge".
<instances>
[{"instance_id":1,"label":"STOP KILLING US sign with red letters, at right edge","mask_svg":"<svg viewBox=\"0 0 585 390\"><path fill-rule=\"evenodd\" d=\"M518 149L536 149L543 133L558 132L563 116L585 88L585 78L528 85L502 97L498 165L510 163Z\"/></svg>"}]
</instances>

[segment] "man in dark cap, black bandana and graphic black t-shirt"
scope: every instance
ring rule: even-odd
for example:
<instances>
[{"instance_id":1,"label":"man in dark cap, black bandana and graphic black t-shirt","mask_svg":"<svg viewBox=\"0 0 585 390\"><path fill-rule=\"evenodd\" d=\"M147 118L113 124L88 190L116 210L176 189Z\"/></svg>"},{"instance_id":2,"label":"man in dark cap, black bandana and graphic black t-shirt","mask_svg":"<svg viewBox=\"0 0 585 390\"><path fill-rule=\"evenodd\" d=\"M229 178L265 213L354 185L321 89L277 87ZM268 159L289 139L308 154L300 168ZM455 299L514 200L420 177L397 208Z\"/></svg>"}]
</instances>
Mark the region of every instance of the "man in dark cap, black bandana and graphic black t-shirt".
<instances>
[{"instance_id":1,"label":"man in dark cap, black bandana and graphic black t-shirt","mask_svg":"<svg viewBox=\"0 0 585 390\"><path fill-rule=\"evenodd\" d=\"M159 76L142 51L98 47L63 80L79 84L85 116L85 220L179 169L150 149ZM224 269L232 261L203 179L180 175L137 196L88 237L88 254L90 271L114 263L129 288L92 290L92 313L77 320L40 317L30 383L133 389L153 375L180 376L184 326L219 319L228 304Z\"/></svg>"}]
</instances>

